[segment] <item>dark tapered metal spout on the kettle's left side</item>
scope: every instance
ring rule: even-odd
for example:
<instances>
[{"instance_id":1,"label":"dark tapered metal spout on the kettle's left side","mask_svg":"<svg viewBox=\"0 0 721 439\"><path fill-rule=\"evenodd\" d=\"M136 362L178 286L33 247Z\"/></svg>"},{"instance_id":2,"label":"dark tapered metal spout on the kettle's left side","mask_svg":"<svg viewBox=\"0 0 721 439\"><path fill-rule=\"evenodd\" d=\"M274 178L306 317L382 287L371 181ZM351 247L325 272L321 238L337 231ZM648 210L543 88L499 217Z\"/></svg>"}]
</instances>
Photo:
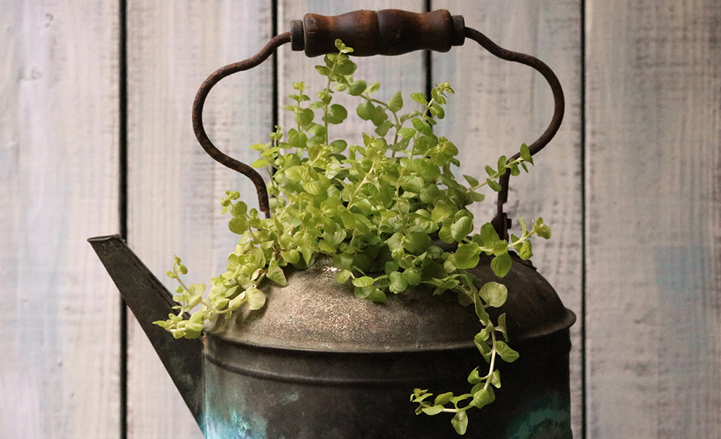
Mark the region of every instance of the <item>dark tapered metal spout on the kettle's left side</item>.
<instances>
[{"instance_id":1,"label":"dark tapered metal spout on the kettle's left side","mask_svg":"<svg viewBox=\"0 0 721 439\"><path fill-rule=\"evenodd\" d=\"M120 235L92 237L88 242L140 322L195 421L203 428L203 342L175 340L162 327L153 325L174 313L172 307L177 304Z\"/></svg>"}]
</instances>

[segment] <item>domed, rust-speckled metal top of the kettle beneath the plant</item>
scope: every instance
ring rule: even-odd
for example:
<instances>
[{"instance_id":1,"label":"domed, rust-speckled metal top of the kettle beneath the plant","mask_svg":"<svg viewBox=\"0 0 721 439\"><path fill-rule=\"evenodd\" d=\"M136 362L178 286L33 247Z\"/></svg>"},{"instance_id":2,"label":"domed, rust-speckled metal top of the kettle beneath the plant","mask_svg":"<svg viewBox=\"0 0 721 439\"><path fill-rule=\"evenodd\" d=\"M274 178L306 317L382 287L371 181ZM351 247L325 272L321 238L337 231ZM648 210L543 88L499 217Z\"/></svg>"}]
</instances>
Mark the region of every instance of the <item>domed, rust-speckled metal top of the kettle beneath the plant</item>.
<instances>
[{"instance_id":1,"label":"domed, rust-speckled metal top of the kettle beneath the plant","mask_svg":"<svg viewBox=\"0 0 721 439\"><path fill-rule=\"evenodd\" d=\"M486 281L508 287L503 308L512 340L526 340L563 330L575 320L548 282L534 268L514 258L511 271L498 279L483 258L472 270ZM287 270L288 286L267 282L266 306L242 312L243 318L218 319L218 337L250 345L336 352L412 351L473 347L481 329L472 307L461 307L456 294L433 297L423 287L392 295L385 304L359 300L353 286L335 280L329 259L306 270ZM495 315L494 315L495 314ZM241 317L239 315L239 317Z\"/></svg>"}]
</instances>

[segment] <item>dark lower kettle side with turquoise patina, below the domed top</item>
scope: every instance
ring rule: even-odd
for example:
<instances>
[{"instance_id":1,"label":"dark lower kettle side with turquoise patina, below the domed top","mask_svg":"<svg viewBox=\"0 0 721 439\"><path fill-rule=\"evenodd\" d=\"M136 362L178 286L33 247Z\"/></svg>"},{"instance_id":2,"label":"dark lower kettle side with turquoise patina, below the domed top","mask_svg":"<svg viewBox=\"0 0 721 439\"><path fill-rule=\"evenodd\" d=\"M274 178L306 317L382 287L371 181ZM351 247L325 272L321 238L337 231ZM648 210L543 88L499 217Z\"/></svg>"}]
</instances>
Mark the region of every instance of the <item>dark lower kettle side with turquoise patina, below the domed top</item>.
<instances>
[{"instance_id":1,"label":"dark lower kettle side with turquoise patina, below the domed top","mask_svg":"<svg viewBox=\"0 0 721 439\"><path fill-rule=\"evenodd\" d=\"M503 386L469 412L465 437L570 439L568 330L514 348L521 358L499 365ZM332 353L212 334L205 360L208 439L456 439L449 415L417 416L408 396L416 386L467 392L468 372L487 367L475 348Z\"/></svg>"}]
</instances>

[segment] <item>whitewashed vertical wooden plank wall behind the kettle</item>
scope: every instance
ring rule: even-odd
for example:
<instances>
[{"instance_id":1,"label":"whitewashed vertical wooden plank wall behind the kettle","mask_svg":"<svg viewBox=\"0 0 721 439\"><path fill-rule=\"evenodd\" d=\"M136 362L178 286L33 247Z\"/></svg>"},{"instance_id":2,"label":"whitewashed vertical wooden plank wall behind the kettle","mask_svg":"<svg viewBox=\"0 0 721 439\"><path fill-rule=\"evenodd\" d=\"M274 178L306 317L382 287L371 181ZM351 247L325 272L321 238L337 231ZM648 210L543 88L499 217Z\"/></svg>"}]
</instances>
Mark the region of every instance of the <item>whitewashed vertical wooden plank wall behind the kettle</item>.
<instances>
[{"instance_id":1,"label":"whitewashed vertical wooden plank wall behind the kettle","mask_svg":"<svg viewBox=\"0 0 721 439\"><path fill-rule=\"evenodd\" d=\"M534 263L579 316L574 435L721 437L717 1L122 6L128 240L159 274L180 255L192 281L222 271L235 240L217 200L226 189L249 200L254 191L198 148L190 104L209 73L270 38L274 12L283 32L306 12L446 8L500 45L546 61L565 88L565 122L531 175L512 181L507 206L511 216L541 216L552 226L552 239L534 247ZM118 297L84 242L118 232L120 221L120 17L117 1L0 4L1 438L200 438L132 316L128 394L120 400ZM433 54L430 71L422 53L366 58L357 76L380 81L389 96L423 90L427 73L433 82L450 81L453 119L439 131L461 149L461 172L482 175L487 161L544 130L552 100L531 69L474 45ZM211 138L252 161L247 145L267 138L274 104L286 104L286 84L317 89L312 66L319 62L283 47L277 94L270 62L221 82L205 110ZM278 120L288 125L282 110ZM492 202L484 204L479 219L492 216Z\"/></svg>"}]
</instances>

